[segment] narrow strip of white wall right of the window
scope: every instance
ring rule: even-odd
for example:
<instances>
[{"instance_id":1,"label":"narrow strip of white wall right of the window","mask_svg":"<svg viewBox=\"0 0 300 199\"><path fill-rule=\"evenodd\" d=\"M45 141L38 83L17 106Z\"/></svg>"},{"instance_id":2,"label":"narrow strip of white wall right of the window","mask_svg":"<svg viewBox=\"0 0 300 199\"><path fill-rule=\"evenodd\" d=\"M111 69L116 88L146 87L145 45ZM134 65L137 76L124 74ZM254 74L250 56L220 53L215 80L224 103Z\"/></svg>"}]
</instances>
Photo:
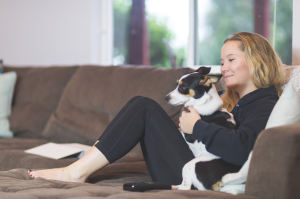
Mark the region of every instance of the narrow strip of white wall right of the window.
<instances>
[{"instance_id":1,"label":"narrow strip of white wall right of the window","mask_svg":"<svg viewBox=\"0 0 300 199\"><path fill-rule=\"evenodd\" d=\"M300 0L293 1L293 66L300 65Z\"/></svg>"}]
</instances>

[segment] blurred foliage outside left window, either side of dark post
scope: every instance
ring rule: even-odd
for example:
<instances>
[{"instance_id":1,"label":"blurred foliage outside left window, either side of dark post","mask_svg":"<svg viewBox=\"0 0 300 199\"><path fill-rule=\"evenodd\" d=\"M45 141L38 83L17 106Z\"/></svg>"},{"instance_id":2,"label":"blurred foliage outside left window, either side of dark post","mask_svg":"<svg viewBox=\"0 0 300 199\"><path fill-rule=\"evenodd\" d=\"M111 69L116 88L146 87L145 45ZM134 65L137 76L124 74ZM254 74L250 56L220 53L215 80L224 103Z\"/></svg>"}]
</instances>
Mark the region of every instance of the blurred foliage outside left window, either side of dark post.
<instances>
[{"instance_id":1,"label":"blurred foliage outside left window, either side of dark post","mask_svg":"<svg viewBox=\"0 0 300 199\"><path fill-rule=\"evenodd\" d=\"M131 1L114 0L114 58L121 58L120 62L127 63L128 56L128 27L130 18ZM168 19L158 19L146 13L150 65L159 67L171 67L168 51L164 41L170 43L175 35L167 24ZM173 53L180 58L185 57L183 48L172 49Z\"/></svg>"}]
</instances>

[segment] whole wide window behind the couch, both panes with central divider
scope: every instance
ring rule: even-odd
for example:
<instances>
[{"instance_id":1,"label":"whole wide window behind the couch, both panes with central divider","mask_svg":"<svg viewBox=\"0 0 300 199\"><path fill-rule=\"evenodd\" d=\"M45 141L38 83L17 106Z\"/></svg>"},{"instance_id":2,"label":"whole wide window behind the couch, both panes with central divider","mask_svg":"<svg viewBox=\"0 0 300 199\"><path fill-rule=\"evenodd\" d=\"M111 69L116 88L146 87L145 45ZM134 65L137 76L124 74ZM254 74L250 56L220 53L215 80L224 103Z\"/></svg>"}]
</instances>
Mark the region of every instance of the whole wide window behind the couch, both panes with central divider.
<instances>
[{"instance_id":1,"label":"whole wide window behind the couch, both panes with central divider","mask_svg":"<svg viewBox=\"0 0 300 199\"><path fill-rule=\"evenodd\" d=\"M241 31L292 63L293 0L114 0L113 9L114 65L219 66L223 41Z\"/></svg>"}]
</instances>

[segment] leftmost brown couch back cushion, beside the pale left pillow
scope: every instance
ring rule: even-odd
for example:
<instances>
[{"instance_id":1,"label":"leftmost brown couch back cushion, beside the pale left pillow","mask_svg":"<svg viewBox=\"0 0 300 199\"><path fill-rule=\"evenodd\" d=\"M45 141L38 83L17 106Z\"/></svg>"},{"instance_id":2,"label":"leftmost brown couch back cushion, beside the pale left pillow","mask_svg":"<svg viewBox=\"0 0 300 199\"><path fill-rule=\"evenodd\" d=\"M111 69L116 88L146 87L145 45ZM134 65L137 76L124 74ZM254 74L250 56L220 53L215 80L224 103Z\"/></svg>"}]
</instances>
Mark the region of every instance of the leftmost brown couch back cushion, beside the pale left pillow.
<instances>
[{"instance_id":1,"label":"leftmost brown couch back cushion, beside the pale left pillow","mask_svg":"<svg viewBox=\"0 0 300 199\"><path fill-rule=\"evenodd\" d=\"M4 67L15 71L10 128L15 137L40 138L61 93L78 67Z\"/></svg>"}]
</instances>

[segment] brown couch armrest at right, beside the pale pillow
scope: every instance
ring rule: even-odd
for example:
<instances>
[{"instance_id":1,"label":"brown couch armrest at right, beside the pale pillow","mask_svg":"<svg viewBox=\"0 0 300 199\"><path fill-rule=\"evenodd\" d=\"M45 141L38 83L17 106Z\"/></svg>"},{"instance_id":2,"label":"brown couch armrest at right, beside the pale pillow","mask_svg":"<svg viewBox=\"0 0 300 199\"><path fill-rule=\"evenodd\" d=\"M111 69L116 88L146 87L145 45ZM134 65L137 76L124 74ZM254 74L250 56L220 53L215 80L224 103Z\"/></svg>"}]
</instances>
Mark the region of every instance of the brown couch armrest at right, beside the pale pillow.
<instances>
[{"instance_id":1,"label":"brown couch armrest at right, beside the pale pillow","mask_svg":"<svg viewBox=\"0 0 300 199\"><path fill-rule=\"evenodd\" d=\"M246 195L263 199L300 198L300 123L259 135L246 182Z\"/></svg>"}]
</instances>

